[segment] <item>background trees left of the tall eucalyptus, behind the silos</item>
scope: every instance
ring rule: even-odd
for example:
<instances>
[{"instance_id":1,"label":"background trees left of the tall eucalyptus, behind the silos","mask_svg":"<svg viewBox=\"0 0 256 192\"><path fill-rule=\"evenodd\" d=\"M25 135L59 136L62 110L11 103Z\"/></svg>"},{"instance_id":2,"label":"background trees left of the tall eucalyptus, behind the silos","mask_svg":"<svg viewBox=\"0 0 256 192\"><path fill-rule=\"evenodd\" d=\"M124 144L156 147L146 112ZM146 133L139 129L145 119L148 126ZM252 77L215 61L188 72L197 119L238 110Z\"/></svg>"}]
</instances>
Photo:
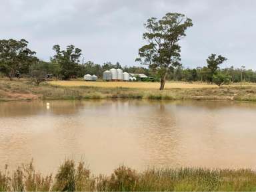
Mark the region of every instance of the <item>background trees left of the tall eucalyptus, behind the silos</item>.
<instances>
[{"instance_id":1,"label":"background trees left of the tall eucalyptus, behind the silos","mask_svg":"<svg viewBox=\"0 0 256 192\"><path fill-rule=\"evenodd\" d=\"M49 62L45 62L39 60L35 56L36 52L30 50L28 45L25 39L0 40L0 72L10 80L19 74L31 76L37 83L44 80L47 74L62 80L83 77L87 73L96 74L101 78L105 70L122 68L119 62L105 62L103 65L91 61L81 62L81 49L73 45L67 46L65 50L61 50L59 45L54 45L55 55ZM124 66L123 70L150 75L149 69L143 67Z\"/></svg>"}]
</instances>

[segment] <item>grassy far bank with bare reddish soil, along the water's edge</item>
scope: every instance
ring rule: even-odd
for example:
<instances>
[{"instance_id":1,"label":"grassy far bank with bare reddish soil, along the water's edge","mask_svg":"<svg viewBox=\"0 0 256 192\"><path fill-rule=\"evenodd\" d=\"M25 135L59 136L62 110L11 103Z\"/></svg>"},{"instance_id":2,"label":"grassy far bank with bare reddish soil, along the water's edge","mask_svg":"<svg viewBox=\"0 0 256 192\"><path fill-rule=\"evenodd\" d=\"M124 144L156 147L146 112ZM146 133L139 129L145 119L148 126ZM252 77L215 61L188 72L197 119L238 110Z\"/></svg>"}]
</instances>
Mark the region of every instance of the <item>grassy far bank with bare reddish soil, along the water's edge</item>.
<instances>
[{"instance_id":1,"label":"grassy far bank with bare reddish soil, along the water's edge","mask_svg":"<svg viewBox=\"0 0 256 192\"><path fill-rule=\"evenodd\" d=\"M70 86L57 82L44 82L40 86L31 84L29 80L0 79L0 100L65 100L65 99L105 99L105 98L139 98L155 100L243 100L256 101L256 86L223 86L221 88L202 84L201 88L184 85L183 88L167 88L159 91L157 88L145 87L147 83L136 82L133 88L113 87L113 82L97 82L103 86ZM83 82L81 82L83 83ZM67 82L72 84L72 82ZM125 84L129 84L126 82ZM169 83L171 84L171 83ZM106 86L111 85L111 86ZM132 84L131 84L132 85ZM131 86L129 85L129 86ZM155 84L153 84L155 86ZM170 86L170 85L169 85ZM178 86L175 83L175 86ZM191 88L184 88L191 86ZM195 87L198 87L197 84Z\"/></svg>"}]
</instances>

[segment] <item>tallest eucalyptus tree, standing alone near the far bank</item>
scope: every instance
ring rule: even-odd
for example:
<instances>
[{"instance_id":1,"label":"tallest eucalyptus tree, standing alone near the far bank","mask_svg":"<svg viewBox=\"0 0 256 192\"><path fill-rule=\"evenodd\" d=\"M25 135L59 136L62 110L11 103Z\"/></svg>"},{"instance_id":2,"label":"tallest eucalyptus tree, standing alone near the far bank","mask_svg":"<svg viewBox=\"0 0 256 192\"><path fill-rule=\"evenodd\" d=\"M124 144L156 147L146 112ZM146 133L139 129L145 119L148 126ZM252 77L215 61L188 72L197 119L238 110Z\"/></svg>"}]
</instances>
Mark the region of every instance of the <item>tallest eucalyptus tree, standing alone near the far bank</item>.
<instances>
[{"instance_id":1,"label":"tallest eucalyptus tree, standing alone near the far bank","mask_svg":"<svg viewBox=\"0 0 256 192\"><path fill-rule=\"evenodd\" d=\"M153 17L145 23L143 39L147 45L139 48L136 60L157 70L161 80L160 90L165 87L168 72L181 66L179 41L186 36L187 28L192 26L192 20L180 13L166 13L162 19Z\"/></svg>"}]
</instances>

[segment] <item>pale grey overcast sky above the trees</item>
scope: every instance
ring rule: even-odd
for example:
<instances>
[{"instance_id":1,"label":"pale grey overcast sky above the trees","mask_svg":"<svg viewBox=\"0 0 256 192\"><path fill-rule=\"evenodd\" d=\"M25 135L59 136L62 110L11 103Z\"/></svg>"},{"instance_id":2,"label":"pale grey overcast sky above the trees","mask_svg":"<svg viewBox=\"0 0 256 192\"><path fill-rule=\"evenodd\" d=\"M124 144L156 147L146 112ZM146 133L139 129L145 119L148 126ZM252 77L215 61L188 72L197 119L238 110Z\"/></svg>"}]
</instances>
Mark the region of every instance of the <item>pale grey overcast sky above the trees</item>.
<instances>
[{"instance_id":1,"label":"pale grey overcast sky above the trees","mask_svg":"<svg viewBox=\"0 0 256 192\"><path fill-rule=\"evenodd\" d=\"M254 0L1 0L0 39L27 39L43 60L53 45L72 44L85 61L139 65L143 23L167 12L193 20L181 42L183 66L204 66L216 53L228 58L222 67L256 69Z\"/></svg>"}]
</instances>

